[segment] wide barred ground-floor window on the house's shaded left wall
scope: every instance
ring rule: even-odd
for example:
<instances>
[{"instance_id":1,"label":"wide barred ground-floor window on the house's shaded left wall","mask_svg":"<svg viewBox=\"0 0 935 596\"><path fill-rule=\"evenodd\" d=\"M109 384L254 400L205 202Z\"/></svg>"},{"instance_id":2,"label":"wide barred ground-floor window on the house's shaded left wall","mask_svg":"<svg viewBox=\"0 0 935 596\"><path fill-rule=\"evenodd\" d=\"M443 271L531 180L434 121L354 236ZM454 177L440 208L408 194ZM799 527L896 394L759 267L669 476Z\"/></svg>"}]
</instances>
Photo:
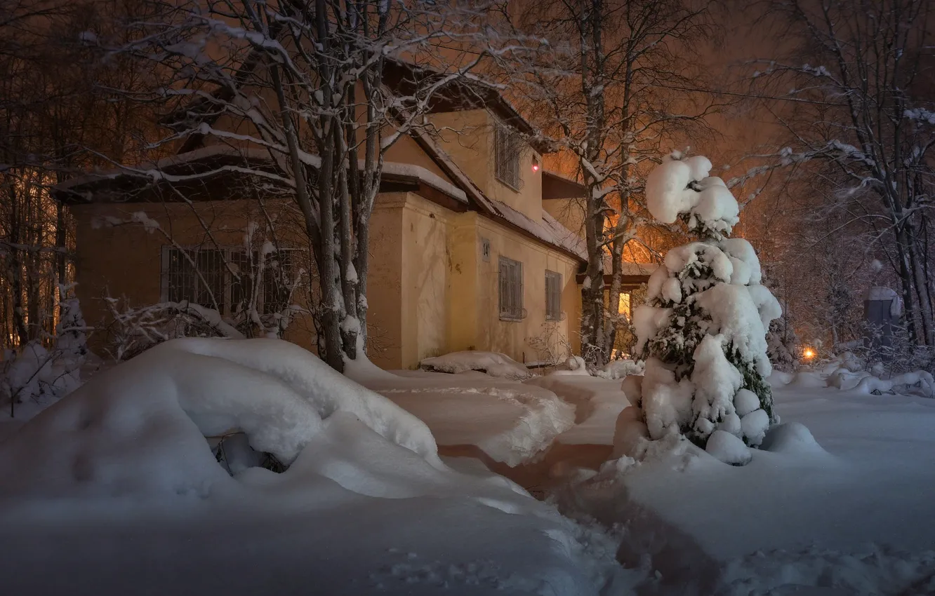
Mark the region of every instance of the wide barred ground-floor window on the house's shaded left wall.
<instances>
[{"instance_id":1,"label":"wide barred ground-floor window on the house's shaded left wall","mask_svg":"<svg viewBox=\"0 0 935 596\"><path fill-rule=\"evenodd\" d=\"M190 302L236 316L254 299L253 284L260 255L242 248L163 247L162 300ZM281 312L289 302L292 252L266 253L263 278L256 292L257 310L264 315Z\"/></svg>"}]
</instances>

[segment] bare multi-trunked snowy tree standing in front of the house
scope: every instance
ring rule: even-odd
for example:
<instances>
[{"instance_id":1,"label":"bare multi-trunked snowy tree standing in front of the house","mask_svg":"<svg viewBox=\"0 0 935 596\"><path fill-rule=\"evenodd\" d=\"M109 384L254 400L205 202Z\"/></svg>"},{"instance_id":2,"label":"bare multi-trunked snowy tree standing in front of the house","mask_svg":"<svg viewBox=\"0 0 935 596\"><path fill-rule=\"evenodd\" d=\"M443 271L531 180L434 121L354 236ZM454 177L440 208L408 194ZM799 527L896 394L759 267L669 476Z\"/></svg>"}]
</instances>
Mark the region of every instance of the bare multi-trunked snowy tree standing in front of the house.
<instances>
[{"instance_id":1,"label":"bare multi-trunked snowy tree standing in front of the house","mask_svg":"<svg viewBox=\"0 0 935 596\"><path fill-rule=\"evenodd\" d=\"M156 4L168 17L147 23L138 42L114 48L171 73L143 98L174 108L164 121L171 135L154 145L236 148L244 162L233 170L262 181L267 197L295 203L319 283L319 353L343 370L366 345L368 224L384 155L401 136L419 134L440 92L471 78L487 53L484 8L375 0ZM468 40L479 54L452 50Z\"/></svg>"}]
</instances>

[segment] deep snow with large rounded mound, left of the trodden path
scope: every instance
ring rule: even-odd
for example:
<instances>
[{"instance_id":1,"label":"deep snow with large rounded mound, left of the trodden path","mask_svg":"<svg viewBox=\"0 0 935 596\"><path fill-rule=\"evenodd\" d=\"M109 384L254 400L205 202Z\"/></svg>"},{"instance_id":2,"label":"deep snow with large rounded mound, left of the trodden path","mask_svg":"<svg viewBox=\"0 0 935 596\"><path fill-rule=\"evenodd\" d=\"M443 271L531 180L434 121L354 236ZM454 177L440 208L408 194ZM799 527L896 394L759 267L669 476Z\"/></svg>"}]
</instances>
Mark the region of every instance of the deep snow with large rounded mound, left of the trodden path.
<instances>
[{"instance_id":1,"label":"deep snow with large rounded mound, left of the trodden path","mask_svg":"<svg viewBox=\"0 0 935 596\"><path fill-rule=\"evenodd\" d=\"M555 399L555 398L554 398ZM291 463L228 475L205 435ZM598 594L602 532L278 340L174 340L0 441L3 593Z\"/></svg>"}]
</instances>

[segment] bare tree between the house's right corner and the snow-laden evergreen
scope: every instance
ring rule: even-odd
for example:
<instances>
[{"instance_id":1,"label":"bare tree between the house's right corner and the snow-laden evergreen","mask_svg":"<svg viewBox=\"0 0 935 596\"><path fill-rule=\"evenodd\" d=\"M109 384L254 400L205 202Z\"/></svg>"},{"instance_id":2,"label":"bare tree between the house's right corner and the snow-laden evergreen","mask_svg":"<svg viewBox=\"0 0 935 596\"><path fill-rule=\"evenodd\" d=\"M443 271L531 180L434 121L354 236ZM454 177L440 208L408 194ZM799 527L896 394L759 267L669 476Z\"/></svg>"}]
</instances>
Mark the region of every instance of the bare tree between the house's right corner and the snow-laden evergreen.
<instances>
[{"instance_id":1,"label":"bare tree between the house's right corner and the snow-laden evergreen","mask_svg":"<svg viewBox=\"0 0 935 596\"><path fill-rule=\"evenodd\" d=\"M677 0L544 2L511 20L515 31L543 40L538 52L514 54L522 60L507 65L513 92L556 148L574 157L587 188L582 351L601 366L621 322L625 250L653 251L637 246L651 220L642 199L648 166L679 135L702 128L713 107L680 91L703 86L679 49L709 33L706 9Z\"/></svg>"}]
</instances>

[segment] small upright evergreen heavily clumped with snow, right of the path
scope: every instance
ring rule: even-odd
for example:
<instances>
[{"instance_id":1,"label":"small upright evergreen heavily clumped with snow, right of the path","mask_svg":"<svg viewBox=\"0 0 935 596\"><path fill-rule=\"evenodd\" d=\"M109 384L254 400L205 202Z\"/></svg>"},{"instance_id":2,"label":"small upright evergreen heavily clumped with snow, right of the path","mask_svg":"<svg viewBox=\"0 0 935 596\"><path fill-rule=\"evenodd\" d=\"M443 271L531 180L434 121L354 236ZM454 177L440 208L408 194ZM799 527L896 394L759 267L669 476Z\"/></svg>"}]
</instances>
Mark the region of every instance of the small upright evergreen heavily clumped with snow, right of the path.
<instances>
[{"instance_id":1,"label":"small upright evergreen heavily clumped with snow, right of the path","mask_svg":"<svg viewBox=\"0 0 935 596\"><path fill-rule=\"evenodd\" d=\"M653 216L682 220L698 241L669 250L634 313L646 360L640 409L651 439L682 433L705 447L725 431L756 446L777 420L766 335L782 309L760 283L754 248L728 237L739 208L710 170L707 158L674 155L646 181ZM721 436L718 450L733 454L726 444Z\"/></svg>"}]
</instances>

